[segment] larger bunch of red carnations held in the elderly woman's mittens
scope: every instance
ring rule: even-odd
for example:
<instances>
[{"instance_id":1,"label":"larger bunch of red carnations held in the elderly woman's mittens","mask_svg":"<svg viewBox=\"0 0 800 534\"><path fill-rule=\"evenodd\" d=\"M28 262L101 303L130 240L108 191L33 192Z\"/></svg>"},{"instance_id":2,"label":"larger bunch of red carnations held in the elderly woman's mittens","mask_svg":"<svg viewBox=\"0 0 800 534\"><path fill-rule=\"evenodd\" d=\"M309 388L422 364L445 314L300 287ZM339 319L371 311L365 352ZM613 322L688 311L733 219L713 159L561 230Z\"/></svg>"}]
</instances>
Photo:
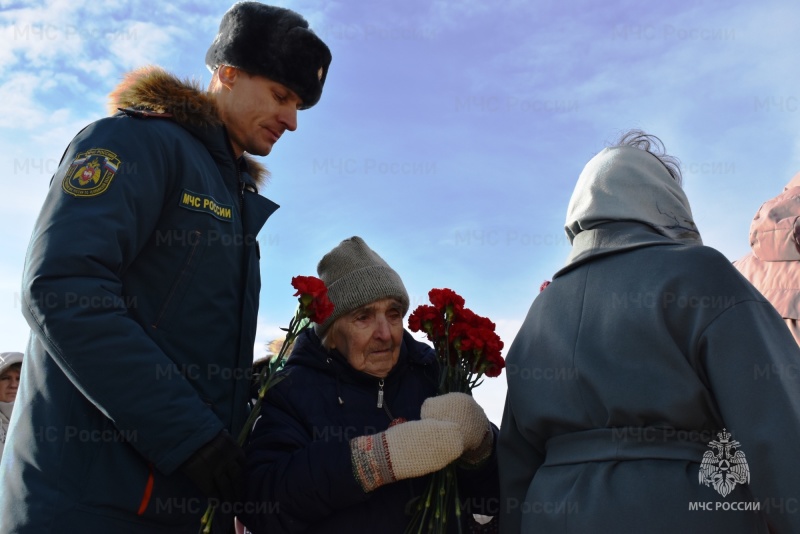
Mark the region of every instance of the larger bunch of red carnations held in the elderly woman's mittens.
<instances>
[{"instance_id":1,"label":"larger bunch of red carnations held in the elderly woman's mittens","mask_svg":"<svg viewBox=\"0 0 800 534\"><path fill-rule=\"evenodd\" d=\"M465 308L464 299L451 289L431 289L428 297L432 305L418 306L408 318L408 328L424 332L436 349L441 367L439 394L470 393L483 376L499 376L506 363L495 324ZM446 532L451 509L460 532L455 464L433 474L407 532Z\"/></svg>"}]
</instances>

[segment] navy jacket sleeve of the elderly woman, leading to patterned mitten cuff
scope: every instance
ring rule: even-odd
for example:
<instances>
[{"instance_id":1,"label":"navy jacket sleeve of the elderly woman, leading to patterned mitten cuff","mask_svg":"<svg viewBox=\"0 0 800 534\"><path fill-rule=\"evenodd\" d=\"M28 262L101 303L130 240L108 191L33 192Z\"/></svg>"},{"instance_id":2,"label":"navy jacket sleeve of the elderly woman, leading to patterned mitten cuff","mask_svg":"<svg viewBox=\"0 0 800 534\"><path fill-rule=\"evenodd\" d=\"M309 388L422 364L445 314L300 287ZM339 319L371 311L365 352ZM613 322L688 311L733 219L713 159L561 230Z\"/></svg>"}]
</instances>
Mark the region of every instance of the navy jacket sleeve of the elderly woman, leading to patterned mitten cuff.
<instances>
[{"instance_id":1,"label":"navy jacket sleeve of the elderly woman, leading to patterned mitten cuff","mask_svg":"<svg viewBox=\"0 0 800 534\"><path fill-rule=\"evenodd\" d=\"M245 451L245 513L239 519L255 532L305 532L370 495L353 475L349 438L355 436L314 440L275 389L267 394Z\"/></svg>"}]
</instances>

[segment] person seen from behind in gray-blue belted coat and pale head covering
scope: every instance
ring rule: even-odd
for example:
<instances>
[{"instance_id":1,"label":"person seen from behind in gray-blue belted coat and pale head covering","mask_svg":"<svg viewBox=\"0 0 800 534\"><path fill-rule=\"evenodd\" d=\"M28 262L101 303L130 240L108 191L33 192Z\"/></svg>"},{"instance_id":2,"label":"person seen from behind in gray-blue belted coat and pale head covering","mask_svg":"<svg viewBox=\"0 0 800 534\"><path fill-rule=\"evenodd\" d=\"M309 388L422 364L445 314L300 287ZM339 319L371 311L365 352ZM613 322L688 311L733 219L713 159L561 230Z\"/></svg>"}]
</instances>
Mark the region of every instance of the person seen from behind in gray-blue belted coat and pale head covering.
<instances>
[{"instance_id":1,"label":"person seen from behind in gray-blue belted coat and pale head covering","mask_svg":"<svg viewBox=\"0 0 800 534\"><path fill-rule=\"evenodd\" d=\"M502 532L800 532L800 351L702 246L659 145L583 169L567 264L509 349Z\"/></svg>"}]
</instances>

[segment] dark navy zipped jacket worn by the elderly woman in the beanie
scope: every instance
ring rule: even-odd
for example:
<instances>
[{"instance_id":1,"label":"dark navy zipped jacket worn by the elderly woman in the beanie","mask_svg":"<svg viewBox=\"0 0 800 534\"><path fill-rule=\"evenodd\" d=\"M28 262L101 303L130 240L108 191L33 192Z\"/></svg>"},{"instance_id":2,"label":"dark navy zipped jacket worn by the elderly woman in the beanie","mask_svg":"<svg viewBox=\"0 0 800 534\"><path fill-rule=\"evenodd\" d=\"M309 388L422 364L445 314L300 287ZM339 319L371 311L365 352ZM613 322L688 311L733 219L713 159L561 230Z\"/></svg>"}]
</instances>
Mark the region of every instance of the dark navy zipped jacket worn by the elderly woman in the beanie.
<instances>
[{"instance_id":1,"label":"dark navy zipped jacket worn by the elderly woman in the beanie","mask_svg":"<svg viewBox=\"0 0 800 534\"><path fill-rule=\"evenodd\" d=\"M437 393L433 349L404 333L397 365L384 380L383 408L377 403L379 379L322 348L312 329L298 338L282 373L246 448L243 522L255 534L404 532L406 507L429 477L365 493L353 475L350 440L382 432L395 418L420 418L422 403ZM484 508L497 503L494 453L478 469L460 469L459 482L462 501Z\"/></svg>"}]
</instances>

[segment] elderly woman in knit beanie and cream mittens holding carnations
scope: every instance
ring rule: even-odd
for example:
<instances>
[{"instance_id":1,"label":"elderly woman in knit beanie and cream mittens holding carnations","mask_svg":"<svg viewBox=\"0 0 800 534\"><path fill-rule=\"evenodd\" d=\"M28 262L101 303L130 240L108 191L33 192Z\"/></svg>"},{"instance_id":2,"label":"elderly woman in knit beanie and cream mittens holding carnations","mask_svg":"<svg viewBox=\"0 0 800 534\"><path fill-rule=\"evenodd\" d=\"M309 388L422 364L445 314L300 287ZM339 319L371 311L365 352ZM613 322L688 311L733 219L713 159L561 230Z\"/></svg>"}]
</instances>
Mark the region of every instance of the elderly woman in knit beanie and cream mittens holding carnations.
<instances>
[{"instance_id":1,"label":"elderly woman in knit beanie and cream mittens holding carnations","mask_svg":"<svg viewBox=\"0 0 800 534\"><path fill-rule=\"evenodd\" d=\"M434 397L436 355L403 328L397 273L359 237L317 271L335 310L298 338L267 394L239 519L255 534L402 533L425 475L456 460L463 517L496 509L497 429L472 397Z\"/></svg>"}]
</instances>

